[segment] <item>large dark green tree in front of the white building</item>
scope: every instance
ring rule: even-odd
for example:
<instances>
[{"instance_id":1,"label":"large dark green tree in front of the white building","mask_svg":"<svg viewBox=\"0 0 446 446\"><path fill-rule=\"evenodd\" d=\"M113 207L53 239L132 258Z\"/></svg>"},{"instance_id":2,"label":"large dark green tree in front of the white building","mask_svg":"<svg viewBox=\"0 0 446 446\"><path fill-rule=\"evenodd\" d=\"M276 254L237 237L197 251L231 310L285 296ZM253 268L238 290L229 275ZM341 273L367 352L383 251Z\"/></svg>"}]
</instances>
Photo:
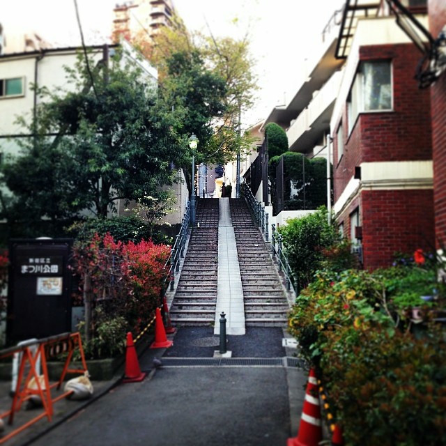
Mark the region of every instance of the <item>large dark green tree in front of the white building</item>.
<instances>
[{"instance_id":1,"label":"large dark green tree in front of the white building","mask_svg":"<svg viewBox=\"0 0 446 446\"><path fill-rule=\"evenodd\" d=\"M156 197L171 183L171 162L185 156L174 130L183 109L167 110L124 60L117 54L109 68L89 70L79 55L67 68L73 91L38 91L45 101L27 129L34 136L19 139L21 153L1 169L13 192L3 201L10 224L70 220L82 210L106 217L119 199Z\"/></svg>"}]
</instances>

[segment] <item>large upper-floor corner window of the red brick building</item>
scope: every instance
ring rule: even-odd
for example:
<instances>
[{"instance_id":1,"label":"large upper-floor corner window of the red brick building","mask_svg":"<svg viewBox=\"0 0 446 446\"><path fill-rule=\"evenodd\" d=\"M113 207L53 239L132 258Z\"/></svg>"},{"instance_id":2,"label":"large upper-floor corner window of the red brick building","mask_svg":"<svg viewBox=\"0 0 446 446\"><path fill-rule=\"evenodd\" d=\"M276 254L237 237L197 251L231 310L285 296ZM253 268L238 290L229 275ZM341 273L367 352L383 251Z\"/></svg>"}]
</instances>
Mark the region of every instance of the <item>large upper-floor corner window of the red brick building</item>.
<instances>
[{"instance_id":1,"label":"large upper-floor corner window of the red brick building","mask_svg":"<svg viewBox=\"0 0 446 446\"><path fill-rule=\"evenodd\" d=\"M347 99L348 133L362 112L392 110L392 64L361 62Z\"/></svg>"}]
</instances>

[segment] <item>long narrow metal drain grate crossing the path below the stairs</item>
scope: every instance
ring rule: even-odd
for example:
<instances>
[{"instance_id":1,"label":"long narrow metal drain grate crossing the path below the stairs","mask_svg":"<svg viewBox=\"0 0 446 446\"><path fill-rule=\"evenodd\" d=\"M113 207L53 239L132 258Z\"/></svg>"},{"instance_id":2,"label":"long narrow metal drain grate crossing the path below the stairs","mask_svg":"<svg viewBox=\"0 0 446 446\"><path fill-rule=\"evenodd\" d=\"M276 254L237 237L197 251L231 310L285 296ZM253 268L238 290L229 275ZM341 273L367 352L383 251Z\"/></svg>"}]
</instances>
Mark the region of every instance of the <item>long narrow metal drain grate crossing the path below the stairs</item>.
<instances>
[{"instance_id":1,"label":"long narrow metal drain grate crossing the path below the stairs","mask_svg":"<svg viewBox=\"0 0 446 446\"><path fill-rule=\"evenodd\" d=\"M162 357L164 367L299 367L306 362L296 357Z\"/></svg>"}]
</instances>

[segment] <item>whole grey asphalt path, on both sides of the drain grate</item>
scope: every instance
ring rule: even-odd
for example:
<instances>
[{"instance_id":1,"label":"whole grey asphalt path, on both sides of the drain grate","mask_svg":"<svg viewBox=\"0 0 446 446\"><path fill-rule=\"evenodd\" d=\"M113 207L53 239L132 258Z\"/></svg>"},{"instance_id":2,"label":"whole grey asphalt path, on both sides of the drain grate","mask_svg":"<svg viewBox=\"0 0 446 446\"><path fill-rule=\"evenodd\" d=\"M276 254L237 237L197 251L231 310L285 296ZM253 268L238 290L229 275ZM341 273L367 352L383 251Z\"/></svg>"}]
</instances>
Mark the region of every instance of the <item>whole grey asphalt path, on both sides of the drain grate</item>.
<instances>
[{"instance_id":1,"label":"whole grey asphalt path, on both sides of the drain grate","mask_svg":"<svg viewBox=\"0 0 446 446\"><path fill-rule=\"evenodd\" d=\"M280 328L248 328L244 336L229 336L227 345L235 357L282 357L282 337ZM212 357L217 339L212 327L180 328L173 347L142 355L141 369L150 371L144 381L112 388L31 444L285 445L295 429L290 408L296 399L289 397L290 381L299 386L305 382L300 369L165 364L153 369L154 355L162 355L161 360ZM302 390L297 391L300 396Z\"/></svg>"}]
</instances>

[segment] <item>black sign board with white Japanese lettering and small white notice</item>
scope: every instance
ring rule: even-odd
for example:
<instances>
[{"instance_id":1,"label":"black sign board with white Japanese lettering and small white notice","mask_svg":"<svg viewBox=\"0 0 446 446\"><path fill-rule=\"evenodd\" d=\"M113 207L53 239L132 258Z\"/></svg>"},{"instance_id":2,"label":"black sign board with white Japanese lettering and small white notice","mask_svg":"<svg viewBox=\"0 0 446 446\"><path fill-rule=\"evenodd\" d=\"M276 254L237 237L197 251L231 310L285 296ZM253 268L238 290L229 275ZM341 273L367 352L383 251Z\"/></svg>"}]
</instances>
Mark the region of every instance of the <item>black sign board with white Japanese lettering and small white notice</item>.
<instances>
[{"instance_id":1,"label":"black sign board with white Japanese lettering and small white notice","mask_svg":"<svg viewBox=\"0 0 446 446\"><path fill-rule=\"evenodd\" d=\"M72 239L10 242L8 341L71 331Z\"/></svg>"}]
</instances>

